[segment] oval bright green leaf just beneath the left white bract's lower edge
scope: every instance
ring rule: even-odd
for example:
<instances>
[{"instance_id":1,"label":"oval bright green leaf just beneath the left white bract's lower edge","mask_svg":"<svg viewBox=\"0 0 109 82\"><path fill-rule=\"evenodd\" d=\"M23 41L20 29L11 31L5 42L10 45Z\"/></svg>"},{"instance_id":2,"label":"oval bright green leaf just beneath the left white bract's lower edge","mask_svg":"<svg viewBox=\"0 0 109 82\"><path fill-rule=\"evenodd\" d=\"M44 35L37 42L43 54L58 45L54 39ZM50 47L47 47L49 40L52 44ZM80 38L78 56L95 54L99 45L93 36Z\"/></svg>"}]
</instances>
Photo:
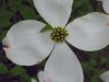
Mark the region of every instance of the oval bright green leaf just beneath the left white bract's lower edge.
<instances>
[{"instance_id":1,"label":"oval bright green leaf just beneath the left white bract's lower edge","mask_svg":"<svg viewBox=\"0 0 109 82\"><path fill-rule=\"evenodd\" d=\"M12 77L20 75L20 74L23 74L25 72L26 72L25 69L20 67L20 66L12 68L11 71L10 71Z\"/></svg>"}]
</instances>

